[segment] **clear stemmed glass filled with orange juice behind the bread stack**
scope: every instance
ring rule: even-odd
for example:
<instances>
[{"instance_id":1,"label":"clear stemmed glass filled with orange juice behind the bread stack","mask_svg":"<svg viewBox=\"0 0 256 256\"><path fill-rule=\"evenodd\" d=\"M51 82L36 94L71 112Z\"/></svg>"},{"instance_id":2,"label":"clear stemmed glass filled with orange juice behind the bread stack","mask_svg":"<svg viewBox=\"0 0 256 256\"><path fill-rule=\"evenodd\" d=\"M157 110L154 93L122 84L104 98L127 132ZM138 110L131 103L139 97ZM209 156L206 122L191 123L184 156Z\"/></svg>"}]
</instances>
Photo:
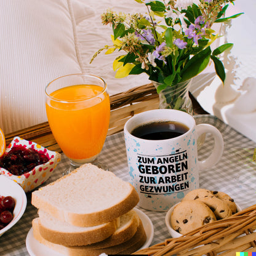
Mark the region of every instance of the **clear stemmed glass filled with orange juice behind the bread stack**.
<instances>
[{"instance_id":1,"label":"clear stemmed glass filled with orange juice behind the bread stack","mask_svg":"<svg viewBox=\"0 0 256 256\"><path fill-rule=\"evenodd\" d=\"M92 74L69 74L50 82L45 92L50 129L71 167L94 162L110 122L106 82Z\"/></svg>"}]
</instances>

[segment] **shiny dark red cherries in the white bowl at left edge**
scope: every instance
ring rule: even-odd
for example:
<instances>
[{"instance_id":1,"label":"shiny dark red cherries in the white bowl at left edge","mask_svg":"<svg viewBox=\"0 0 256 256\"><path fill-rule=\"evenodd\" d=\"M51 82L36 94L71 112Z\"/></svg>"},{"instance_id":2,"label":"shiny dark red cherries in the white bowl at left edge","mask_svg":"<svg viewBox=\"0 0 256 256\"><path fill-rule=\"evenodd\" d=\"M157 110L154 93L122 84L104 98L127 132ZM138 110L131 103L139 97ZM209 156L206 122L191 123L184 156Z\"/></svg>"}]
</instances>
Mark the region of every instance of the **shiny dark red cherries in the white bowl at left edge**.
<instances>
[{"instance_id":1,"label":"shiny dark red cherries in the white bowl at left edge","mask_svg":"<svg viewBox=\"0 0 256 256\"><path fill-rule=\"evenodd\" d=\"M15 199L11 196L0 196L0 230L14 218Z\"/></svg>"}]
</instances>

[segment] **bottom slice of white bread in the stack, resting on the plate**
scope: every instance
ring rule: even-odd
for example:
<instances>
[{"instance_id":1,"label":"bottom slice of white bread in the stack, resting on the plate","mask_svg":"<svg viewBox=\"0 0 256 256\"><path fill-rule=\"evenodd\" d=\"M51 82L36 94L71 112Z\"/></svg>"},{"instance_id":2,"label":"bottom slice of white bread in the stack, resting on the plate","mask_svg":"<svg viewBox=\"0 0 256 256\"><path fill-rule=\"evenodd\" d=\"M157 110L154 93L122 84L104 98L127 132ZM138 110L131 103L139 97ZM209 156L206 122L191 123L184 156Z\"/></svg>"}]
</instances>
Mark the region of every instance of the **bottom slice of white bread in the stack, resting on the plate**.
<instances>
[{"instance_id":1,"label":"bottom slice of white bread in the stack, resting on the plate","mask_svg":"<svg viewBox=\"0 0 256 256\"><path fill-rule=\"evenodd\" d=\"M60 244L54 244L42 238L39 232L38 218L34 218L33 222L33 236L44 246L49 247L52 250L59 252L62 255L68 256L98 256L102 253L105 254L124 254L128 252L129 254L140 249L146 241L146 233L143 228L143 224L140 224L137 228L134 236L122 244L116 246L106 247L104 249L88 249L87 246L61 246ZM124 253L122 253L124 252Z\"/></svg>"}]
</instances>

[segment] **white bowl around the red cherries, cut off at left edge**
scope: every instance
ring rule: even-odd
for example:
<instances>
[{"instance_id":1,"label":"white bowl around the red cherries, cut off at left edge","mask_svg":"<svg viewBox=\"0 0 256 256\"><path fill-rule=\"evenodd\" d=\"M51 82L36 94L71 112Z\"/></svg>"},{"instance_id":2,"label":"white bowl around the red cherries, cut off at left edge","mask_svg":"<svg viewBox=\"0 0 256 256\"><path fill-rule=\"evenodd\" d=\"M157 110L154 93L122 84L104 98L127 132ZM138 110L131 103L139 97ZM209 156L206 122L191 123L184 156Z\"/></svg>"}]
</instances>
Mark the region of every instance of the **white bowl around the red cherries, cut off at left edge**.
<instances>
[{"instance_id":1,"label":"white bowl around the red cherries, cut off at left edge","mask_svg":"<svg viewBox=\"0 0 256 256\"><path fill-rule=\"evenodd\" d=\"M12 196L15 199L14 218L0 230L0 236L20 220L26 209L26 194L18 183L0 174L0 196Z\"/></svg>"}]
</instances>

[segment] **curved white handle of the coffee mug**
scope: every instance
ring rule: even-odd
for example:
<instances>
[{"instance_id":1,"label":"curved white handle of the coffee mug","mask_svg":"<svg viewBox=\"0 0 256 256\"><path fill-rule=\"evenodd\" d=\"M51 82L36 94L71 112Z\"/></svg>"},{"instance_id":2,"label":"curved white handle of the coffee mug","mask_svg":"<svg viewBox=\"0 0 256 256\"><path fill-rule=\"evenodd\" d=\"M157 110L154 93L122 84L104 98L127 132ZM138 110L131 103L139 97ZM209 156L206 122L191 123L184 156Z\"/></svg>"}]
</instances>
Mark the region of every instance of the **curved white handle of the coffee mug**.
<instances>
[{"instance_id":1,"label":"curved white handle of the coffee mug","mask_svg":"<svg viewBox=\"0 0 256 256\"><path fill-rule=\"evenodd\" d=\"M196 126L196 136L197 138L204 133L210 133L214 137L214 149L210 156L202 161L198 161L199 169L207 169L214 166L222 157L224 141L220 131L210 124L198 124Z\"/></svg>"}]
</instances>

